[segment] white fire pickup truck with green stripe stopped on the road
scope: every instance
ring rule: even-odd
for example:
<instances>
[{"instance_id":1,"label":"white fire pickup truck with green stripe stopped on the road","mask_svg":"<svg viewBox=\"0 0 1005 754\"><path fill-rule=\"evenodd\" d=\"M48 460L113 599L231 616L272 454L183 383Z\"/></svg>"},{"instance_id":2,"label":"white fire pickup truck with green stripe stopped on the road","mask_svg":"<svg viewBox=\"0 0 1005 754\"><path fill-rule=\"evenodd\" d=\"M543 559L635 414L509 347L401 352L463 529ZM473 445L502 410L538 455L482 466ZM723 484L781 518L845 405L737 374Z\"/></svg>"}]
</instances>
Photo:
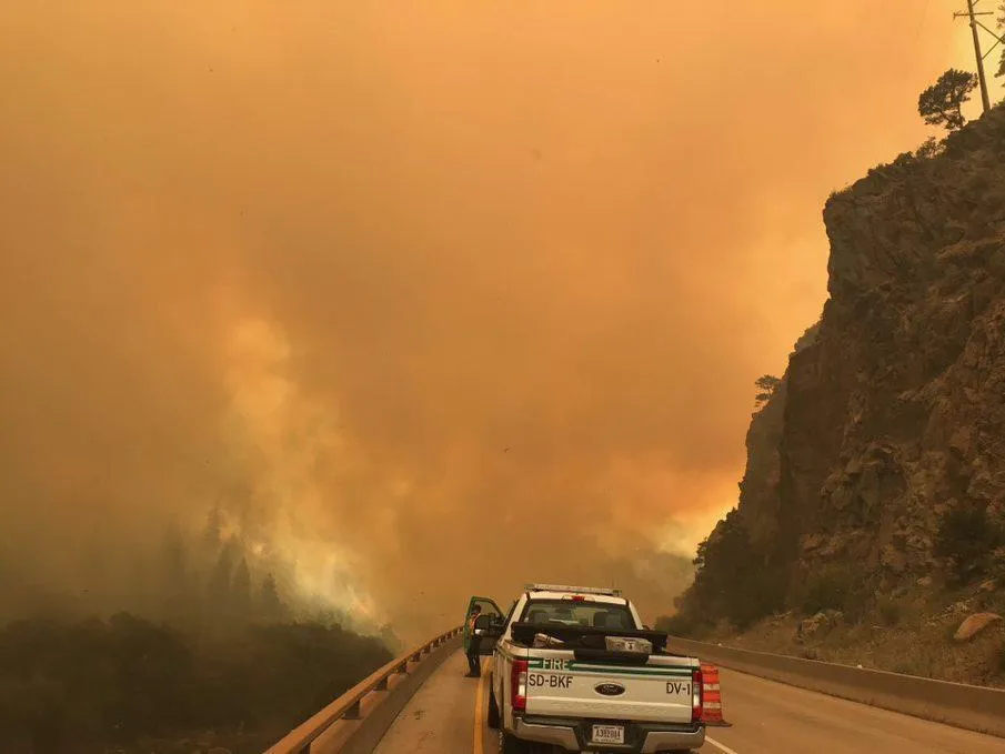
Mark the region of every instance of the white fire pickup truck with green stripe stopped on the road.
<instances>
[{"instance_id":1,"label":"white fire pickup truck with green stripe stopped on the road","mask_svg":"<svg viewBox=\"0 0 1005 754\"><path fill-rule=\"evenodd\" d=\"M705 742L702 671L616 590L529 585L495 639L489 717L502 754L686 752Z\"/></svg>"}]
</instances>

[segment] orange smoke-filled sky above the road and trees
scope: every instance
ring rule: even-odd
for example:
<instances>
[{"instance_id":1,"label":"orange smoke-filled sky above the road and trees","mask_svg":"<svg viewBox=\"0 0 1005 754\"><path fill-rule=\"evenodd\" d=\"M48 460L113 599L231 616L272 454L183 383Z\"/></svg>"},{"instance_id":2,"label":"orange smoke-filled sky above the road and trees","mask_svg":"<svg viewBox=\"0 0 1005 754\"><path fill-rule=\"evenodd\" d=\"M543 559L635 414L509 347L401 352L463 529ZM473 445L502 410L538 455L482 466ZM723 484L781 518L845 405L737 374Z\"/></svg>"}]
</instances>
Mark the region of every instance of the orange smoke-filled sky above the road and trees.
<instances>
[{"instance_id":1,"label":"orange smoke-filled sky above the road and trees","mask_svg":"<svg viewBox=\"0 0 1005 754\"><path fill-rule=\"evenodd\" d=\"M89 583L235 486L421 630L692 546L824 200L973 68L953 10L6 3L0 575Z\"/></svg>"}]
</instances>

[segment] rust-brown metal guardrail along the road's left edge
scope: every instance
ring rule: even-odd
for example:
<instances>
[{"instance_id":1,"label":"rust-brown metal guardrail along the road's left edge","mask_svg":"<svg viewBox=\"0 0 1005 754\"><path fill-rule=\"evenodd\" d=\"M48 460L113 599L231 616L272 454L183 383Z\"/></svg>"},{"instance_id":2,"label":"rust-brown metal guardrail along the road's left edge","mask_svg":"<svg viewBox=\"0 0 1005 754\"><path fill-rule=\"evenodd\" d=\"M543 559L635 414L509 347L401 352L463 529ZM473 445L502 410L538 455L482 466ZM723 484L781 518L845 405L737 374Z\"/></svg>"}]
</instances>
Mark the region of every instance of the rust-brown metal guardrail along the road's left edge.
<instances>
[{"instance_id":1,"label":"rust-brown metal guardrail along the road's left edge","mask_svg":"<svg viewBox=\"0 0 1005 754\"><path fill-rule=\"evenodd\" d=\"M451 629L374 671L321 712L301 723L283 736L282 740L270 746L265 754L306 754L306 752L310 752L311 744L339 721L360 720L360 704L369 694L388 691L392 676L408 675L409 663L422 662L424 657L462 631L463 626Z\"/></svg>"}]
</instances>

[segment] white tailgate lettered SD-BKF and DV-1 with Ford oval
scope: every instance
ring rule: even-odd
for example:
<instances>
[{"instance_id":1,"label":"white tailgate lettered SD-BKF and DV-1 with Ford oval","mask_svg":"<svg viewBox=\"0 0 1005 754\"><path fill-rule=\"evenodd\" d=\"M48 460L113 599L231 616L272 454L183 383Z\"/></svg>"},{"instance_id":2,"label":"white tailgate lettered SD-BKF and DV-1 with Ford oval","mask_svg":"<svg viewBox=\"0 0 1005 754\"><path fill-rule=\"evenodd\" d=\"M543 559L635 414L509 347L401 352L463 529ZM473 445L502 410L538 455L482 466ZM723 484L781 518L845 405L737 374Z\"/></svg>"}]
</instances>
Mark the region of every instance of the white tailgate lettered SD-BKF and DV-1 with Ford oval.
<instances>
[{"instance_id":1,"label":"white tailgate lettered SD-BKF and DV-1 with Ford oval","mask_svg":"<svg viewBox=\"0 0 1005 754\"><path fill-rule=\"evenodd\" d=\"M574 660L569 652L554 654L527 663L529 715L691 722L690 666L661 664L653 662L655 657L650 664L625 666Z\"/></svg>"}]
</instances>

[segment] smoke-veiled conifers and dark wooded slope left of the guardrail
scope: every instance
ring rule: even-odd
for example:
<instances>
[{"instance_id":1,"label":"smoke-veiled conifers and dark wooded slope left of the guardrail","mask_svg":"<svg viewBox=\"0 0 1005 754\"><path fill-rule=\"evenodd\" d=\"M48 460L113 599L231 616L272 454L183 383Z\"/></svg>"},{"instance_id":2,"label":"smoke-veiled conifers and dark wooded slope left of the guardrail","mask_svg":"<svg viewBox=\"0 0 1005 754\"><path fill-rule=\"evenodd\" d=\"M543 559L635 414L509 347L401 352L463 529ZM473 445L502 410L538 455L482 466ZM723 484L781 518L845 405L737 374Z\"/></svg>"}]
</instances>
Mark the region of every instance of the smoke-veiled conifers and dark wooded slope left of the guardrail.
<instances>
[{"instance_id":1,"label":"smoke-veiled conifers and dark wooded slope left of the guardrail","mask_svg":"<svg viewBox=\"0 0 1005 754\"><path fill-rule=\"evenodd\" d=\"M261 752L400 647L284 587L214 509L147 560L131 612L49 601L0 626L4 754Z\"/></svg>"}]
</instances>

